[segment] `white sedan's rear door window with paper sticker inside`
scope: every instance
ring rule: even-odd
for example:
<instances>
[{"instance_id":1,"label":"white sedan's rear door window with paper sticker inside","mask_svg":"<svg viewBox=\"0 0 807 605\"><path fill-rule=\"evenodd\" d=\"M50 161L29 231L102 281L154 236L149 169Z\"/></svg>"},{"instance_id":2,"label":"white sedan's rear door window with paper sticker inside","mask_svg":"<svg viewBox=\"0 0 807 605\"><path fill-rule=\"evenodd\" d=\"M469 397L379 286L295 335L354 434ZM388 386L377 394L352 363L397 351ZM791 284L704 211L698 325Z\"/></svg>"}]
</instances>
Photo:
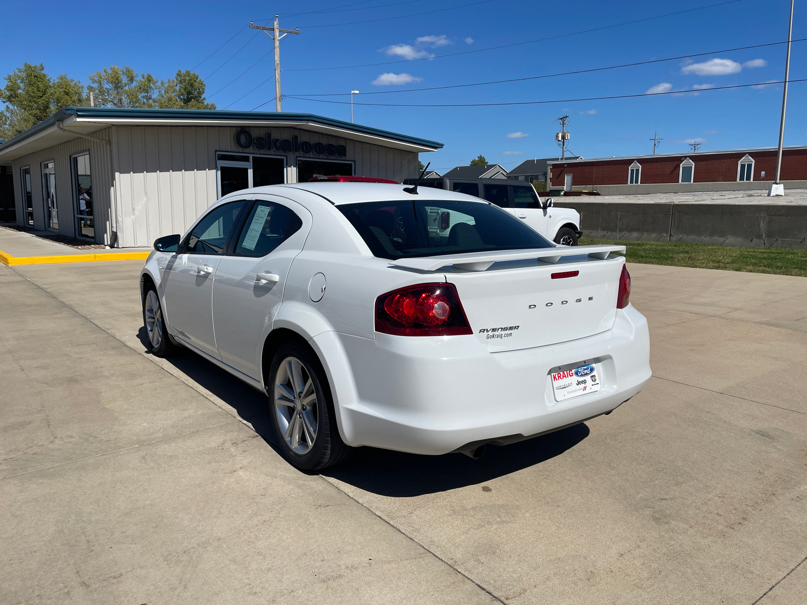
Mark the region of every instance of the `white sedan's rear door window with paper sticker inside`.
<instances>
[{"instance_id":1,"label":"white sedan's rear door window with paper sticker inside","mask_svg":"<svg viewBox=\"0 0 807 605\"><path fill-rule=\"evenodd\" d=\"M298 215L285 206L258 200L241 227L237 257L265 257L303 226Z\"/></svg>"}]
</instances>

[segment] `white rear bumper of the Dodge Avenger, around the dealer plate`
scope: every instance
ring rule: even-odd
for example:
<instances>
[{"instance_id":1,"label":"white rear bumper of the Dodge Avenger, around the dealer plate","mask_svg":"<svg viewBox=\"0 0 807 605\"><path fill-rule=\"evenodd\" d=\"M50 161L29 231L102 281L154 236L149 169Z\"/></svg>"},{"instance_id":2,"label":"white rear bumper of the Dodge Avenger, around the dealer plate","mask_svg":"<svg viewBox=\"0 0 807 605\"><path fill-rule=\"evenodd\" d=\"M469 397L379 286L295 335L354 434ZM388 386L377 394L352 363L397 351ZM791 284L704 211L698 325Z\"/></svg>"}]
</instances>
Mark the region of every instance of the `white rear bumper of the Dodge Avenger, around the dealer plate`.
<instances>
[{"instance_id":1,"label":"white rear bumper of the Dodge Avenger, around the dealer plate","mask_svg":"<svg viewBox=\"0 0 807 605\"><path fill-rule=\"evenodd\" d=\"M313 340L333 338L353 378L352 395L337 385L335 399L342 437L354 446L442 454L516 440L611 411L650 378L647 322L632 306L617 311L608 332L504 353L488 353L475 336L377 333L371 340L329 332ZM583 361L600 364L603 388L555 401L550 370ZM345 378L334 380L347 386Z\"/></svg>"}]
</instances>

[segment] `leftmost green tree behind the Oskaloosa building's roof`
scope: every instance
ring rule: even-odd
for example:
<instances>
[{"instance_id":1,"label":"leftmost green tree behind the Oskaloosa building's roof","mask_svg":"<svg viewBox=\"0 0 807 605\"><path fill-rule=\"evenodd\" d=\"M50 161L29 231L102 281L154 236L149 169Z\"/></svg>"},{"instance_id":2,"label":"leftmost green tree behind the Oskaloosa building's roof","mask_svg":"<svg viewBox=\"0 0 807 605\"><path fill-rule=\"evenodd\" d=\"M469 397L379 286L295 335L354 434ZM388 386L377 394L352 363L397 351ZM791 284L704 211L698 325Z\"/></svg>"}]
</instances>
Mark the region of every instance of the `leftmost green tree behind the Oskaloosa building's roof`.
<instances>
[{"instance_id":1,"label":"leftmost green tree behind the Oskaloosa building's roof","mask_svg":"<svg viewBox=\"0 0 807 605\"><path fill-rule=\"evenodd\" d=\"M81 82L64 73L52 80L41 63L23 63L0 89L0 101L6 103L0 111L0 139L19 135L62 107L86 105L84 92Z\"/></svg>"}]
</instances>

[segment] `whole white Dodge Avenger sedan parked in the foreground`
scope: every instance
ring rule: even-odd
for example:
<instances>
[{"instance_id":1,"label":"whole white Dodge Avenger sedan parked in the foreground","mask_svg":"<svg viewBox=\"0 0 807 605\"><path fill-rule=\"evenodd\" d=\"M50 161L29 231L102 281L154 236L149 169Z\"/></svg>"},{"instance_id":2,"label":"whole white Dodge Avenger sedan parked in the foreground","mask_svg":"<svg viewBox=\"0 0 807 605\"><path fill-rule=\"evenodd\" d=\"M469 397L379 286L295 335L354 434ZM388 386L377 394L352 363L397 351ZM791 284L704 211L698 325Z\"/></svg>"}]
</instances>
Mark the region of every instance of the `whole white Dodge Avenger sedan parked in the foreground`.
<instances>
[{"instance_id":1,"label":"whole white Dodge Avenger sedan parked in the foreground","mask_svg":"<svg viewBox=\"0 0 807 605\"><path fill-rule=\"evenodd\" d=\"M301 469L371 445L479 457L608 414L650 378L623 246L558 246L444 190L240 190L140 277L152 353L190 348L269 397Z\"/></svg>"}]
</instances>

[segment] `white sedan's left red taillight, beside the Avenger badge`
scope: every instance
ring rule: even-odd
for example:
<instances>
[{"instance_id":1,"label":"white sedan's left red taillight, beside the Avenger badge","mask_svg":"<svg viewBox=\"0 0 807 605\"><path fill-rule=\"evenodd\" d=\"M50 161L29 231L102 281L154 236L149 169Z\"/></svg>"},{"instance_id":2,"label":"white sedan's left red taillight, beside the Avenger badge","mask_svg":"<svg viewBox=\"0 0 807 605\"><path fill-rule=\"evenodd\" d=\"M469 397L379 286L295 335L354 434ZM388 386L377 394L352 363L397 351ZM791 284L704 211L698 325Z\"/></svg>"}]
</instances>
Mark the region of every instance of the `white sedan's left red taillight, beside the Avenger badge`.
<instances>
[{"instance_id":1,"label":"white sedan's left red taillight, beside the Avenger badge","mask_svg":"<svg viewBox=\"0 0 807 605\"><path fill-rule=\"evenodd\" d=\"M399 336L473 334L453 284L418 284L375 301L375 331Z\"/></svg>"}]
</instances>

